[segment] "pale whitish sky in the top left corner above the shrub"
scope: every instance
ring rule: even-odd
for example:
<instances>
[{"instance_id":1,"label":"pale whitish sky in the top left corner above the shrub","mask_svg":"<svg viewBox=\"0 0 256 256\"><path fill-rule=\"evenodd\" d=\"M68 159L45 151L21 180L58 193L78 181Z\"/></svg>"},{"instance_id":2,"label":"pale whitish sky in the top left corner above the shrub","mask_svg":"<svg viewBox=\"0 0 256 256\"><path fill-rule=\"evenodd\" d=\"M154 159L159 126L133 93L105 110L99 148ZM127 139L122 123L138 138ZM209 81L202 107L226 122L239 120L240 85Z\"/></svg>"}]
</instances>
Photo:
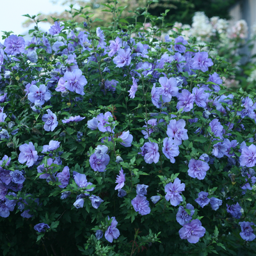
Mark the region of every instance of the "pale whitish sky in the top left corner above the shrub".
<instances>
[{"instance_id":1,"label":"pale whitish sky in the top left corner above the shrub","mask_svg":"<svg viewBox=\"0 0 256 256\"><path fill-rule=\"evenodd\" d=\"M22 28L22 22L28 19L22 16L24 14L28 13L32 16L38 13L61 13L68 9L68 5L52 4L51 0L0 0L0 5L0 42L3 42L1 31L13 31L15 35L25 35L29 28L33 28L33 25ZM39 24L44 31L47 31L50 26L49 23Z\"/></svg>"}]
</instances>

